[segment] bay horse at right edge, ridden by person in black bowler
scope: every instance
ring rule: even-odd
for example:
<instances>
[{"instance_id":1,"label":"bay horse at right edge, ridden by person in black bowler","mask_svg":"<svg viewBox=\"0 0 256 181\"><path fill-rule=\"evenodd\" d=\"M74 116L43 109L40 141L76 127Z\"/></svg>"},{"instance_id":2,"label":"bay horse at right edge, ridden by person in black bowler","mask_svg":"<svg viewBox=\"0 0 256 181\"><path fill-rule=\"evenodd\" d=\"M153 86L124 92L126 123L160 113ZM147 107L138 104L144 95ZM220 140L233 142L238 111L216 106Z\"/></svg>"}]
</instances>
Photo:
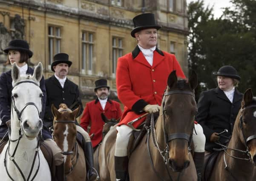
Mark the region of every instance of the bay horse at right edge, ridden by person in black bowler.
<instances>
[{"instance_id":1,"label":"bay horse at right edge, ridden by person in black bowler","mask_svg":"<svg viewBox=\"0 0 256 181\"><path fill-rule=\"evenodd\" d=\"M251 89L244 93L227 147L220 152L209 181L256 180L256 97Z\"/></svg>"}]
</instances>

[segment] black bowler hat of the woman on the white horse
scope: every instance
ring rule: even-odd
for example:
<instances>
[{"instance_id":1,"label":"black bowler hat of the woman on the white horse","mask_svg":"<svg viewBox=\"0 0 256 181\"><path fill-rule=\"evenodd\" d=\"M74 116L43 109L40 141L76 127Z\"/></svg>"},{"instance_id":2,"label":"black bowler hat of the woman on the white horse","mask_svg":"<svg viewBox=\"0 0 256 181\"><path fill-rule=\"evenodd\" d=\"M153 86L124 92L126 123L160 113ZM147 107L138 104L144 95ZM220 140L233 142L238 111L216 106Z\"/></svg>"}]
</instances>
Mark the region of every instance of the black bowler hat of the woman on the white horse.
<instances>
[{"instance_id":1,"label":"black bowler hat of the woman on the white horse","mask_svg":"<svg viewBox=\"0 0 256 181\"><path fill-rule=\"evenodd\" d=\"M9 50L22 50L28 53L29 58L33 56L33 52L29 50L29 44L22 39L14 39L9 42L8 47L6 47L3 51L8 53Z\"/></svg>"}]
</instances>

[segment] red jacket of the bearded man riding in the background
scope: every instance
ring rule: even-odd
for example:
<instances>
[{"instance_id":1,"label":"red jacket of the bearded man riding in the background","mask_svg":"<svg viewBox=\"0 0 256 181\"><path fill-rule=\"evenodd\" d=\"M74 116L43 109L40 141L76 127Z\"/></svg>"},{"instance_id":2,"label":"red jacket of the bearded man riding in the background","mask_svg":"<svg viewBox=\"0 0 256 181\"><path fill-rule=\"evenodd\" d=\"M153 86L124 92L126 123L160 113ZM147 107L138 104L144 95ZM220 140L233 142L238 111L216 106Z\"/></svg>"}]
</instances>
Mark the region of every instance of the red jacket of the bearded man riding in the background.
<instances>
[{"instance_id":1,"label":"red jacket of the bearded man riding in the background","mask_svg":"<svg viewBox=\"0 0 256 181\"><path fill-rule=\"evenodd\" d=\"M97 146L102 140L102 129L105 123L101 118L101 113L104 113L108 119L119 119L122 115L120 104L114 100L108 99L104 110L98 98L86 103L80 125L87 131L87 127L91 123L89 135L94 134L91 139L92 147Z\"/></svg>"}]
</instances>

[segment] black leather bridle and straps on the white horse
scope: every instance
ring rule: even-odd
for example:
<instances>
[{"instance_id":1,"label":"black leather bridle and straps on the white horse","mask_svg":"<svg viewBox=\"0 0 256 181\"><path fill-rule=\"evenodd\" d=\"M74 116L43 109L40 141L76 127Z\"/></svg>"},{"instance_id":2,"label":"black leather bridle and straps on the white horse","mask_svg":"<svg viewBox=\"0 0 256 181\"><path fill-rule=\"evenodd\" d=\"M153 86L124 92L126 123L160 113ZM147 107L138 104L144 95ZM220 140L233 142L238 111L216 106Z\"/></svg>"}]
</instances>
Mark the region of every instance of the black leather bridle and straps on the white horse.
<instances>
[{"instance_id":1,"label":"black leather bridle and straps on the white horse","mask_svg":"<svg viewBox=\"0 0 256 181\"><path fill-rule=\"evenodd\" d=\"M19 85L19 84L23 84L23 83L31 83L31 84L35 84L36 86L39 87L39 85L38 85L37 83L32 82L32 81L20 81L20 82L14 84L13 89L14 89L15 86L17 86L17 85ZM10 159L10 160L14 163L14 165L17 167L17 169L19 170L20 175L22 176L23 180L24 180L24 181L29 181L29 178L30 178L30 176L31 176L31 174L32 174L32 171L33 171L33 168L34 168L34 165L35 165L35 159L36 159L36 157L38 157L38 166L37 166L37 170L36 170L34 176L33 176L32 179L31 179L31 181L33 181L33 180L35 179L35 176L37 175L38 170L39 170L39 167L40 167L40 157L39 157L38 151L40 150L39 146L40 146L40 141L41 141L42 132L40 132L40 134L37 136L37 147L36 147L36 149L35 149L34 159L33 159L32 166L31 166L31 168L30 168L29 176L28 176L27 179L25 178L25 175L23 174L22 170L21 170L20 167L18 166L17 162L15 162L14 156L15 156L15 153L16 153L16 151L17 151L18 145L19 145L19 143L20 143L20 139L23 137L23 126L22 126L22 124L21 124L21 123L22 123L22 121L21 121L21 115L22 115L24 109L25 109L27 106L29 106L29 105L35 106L36 109L37 109L39 118L42 119L42 117L41 117L40 111L39 111L38 107L35 105L35 103L33 103L33 102L26 103L26 104L23 106L23 108L21 109L21 111L19 111L19 110L17 109L16 105L15 105L15 97L14 97L14 95L12 95L11 99L12 99L12 117L13 117L13 109L14 109L14 111L15 111L16 114L17 114L19 123L20 123L20 129L19 129L19 138L18 138L18 139L14 139L14 140L11 139L11 129L9 128L9 130L8 130L9 141L8 141L8 148L6 149L6 153L5 153L4 166L6 167L6 173L7 173L7 175L9 176L9 178L10 178L12 181L14 181L14 179L12 178L12 176L10 175L10 173L9 173L9 171L8 171L8 169L7 169L7 163L6 163L7 157L6 157L6 156L7 156L7 152L8 152L9 159ZM42 98L41 98L41 103L42 103ZM11 154L10 154L10 142L16 142L16 141L17 141L17 144L16 144L16 146L15 146L15 148L14 148L14 152L13 152L12 155L11 155Z\"/></svg>"}]
</instances>

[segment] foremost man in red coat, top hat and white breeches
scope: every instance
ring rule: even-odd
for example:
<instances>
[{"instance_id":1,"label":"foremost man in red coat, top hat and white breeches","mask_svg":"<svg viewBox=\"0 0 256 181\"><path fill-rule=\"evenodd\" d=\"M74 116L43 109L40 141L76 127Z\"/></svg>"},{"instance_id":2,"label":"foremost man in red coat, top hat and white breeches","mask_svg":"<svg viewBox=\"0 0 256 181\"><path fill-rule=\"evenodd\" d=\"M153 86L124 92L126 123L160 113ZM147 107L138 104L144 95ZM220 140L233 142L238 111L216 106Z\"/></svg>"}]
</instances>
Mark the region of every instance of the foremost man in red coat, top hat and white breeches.
<instances>
[{"instance_id":1,"label":"foremost man in red coat, top hat and white breeches","mask_svg":"<svg viewBox=\"0 0 256 181\"><path fill-rule=\"evenodd\" d=\"M140 14L133 18L134 29L131 36L138 45L135 49L118 58L116 85L119 100L124 104L124 113L117 126L115 144L116 180L125 181L127 177L127 147L132 128L127 123L142 114L159 111L167 78L173 70L179 78L185 78L175 55L159 50L154 14ZM133 127L143 123L145 117L133 123ZM202 132L202 131L201 131Z\"/></svg>"}]
</instances>

